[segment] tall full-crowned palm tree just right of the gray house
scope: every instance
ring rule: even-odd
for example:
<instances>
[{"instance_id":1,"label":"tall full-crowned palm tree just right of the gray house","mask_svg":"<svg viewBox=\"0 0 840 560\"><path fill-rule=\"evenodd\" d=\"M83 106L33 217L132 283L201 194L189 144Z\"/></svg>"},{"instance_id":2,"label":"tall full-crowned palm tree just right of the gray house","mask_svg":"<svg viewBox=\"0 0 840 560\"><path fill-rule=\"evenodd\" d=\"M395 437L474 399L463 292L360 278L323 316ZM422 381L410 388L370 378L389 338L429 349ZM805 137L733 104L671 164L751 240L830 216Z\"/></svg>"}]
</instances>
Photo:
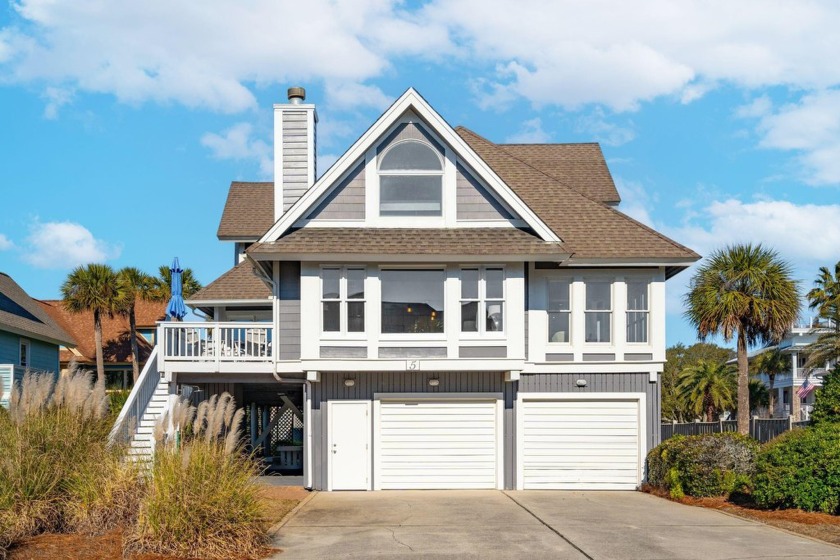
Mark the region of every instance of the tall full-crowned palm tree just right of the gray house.
<instances>
[{"instance_id":1,"label":"tall full-crowned palm tree just right of the gray house","mask_svg":"<svg viewBox=\"0 0 840 560\"><path fill-rule=\"evenodd\" d=\"M778 343L799 315L799 287L776 251L734 245L712 253L691 279L686 317L700 340L737 338L738 432L750 431L747 347Z\"/></svg>"}]
</instances>

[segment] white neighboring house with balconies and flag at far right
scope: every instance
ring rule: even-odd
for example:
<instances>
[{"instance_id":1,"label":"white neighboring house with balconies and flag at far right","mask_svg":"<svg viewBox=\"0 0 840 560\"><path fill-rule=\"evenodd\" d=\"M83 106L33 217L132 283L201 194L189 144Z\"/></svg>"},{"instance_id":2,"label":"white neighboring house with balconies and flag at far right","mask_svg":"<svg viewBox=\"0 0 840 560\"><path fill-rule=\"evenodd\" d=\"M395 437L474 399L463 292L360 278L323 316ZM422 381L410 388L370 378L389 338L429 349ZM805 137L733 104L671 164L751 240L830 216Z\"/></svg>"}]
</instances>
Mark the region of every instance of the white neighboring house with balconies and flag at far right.
<instances>
[{"instance_id":1,"label":"white neighboring house with balconies and flag at far right","mask_svg":"<svg viewBox=\"0 0 840 560\"><path fill-rule=\"evenodd\" d=\"M773 380L773 390L776 391L776 410L774 416L787 418L793 416L798 420L809 420L811 411L814 408L814 399L817 391L822 387L823 376L832 367L832 364L824 364L823 367L806 368L808 346L816 342L819 335L831 325L823 319L810 319L808 321L793 325L777 346L762 348L750 355L750 359L758 354L779 348L782 354L790 357L790 369L781 375L776 375ZM769 380L766 375L759 375L762 383L768 386ZM805 385L803 391L799 389ZM804 397L802 394L804 393Z\"/></svg>"}]
</instances>

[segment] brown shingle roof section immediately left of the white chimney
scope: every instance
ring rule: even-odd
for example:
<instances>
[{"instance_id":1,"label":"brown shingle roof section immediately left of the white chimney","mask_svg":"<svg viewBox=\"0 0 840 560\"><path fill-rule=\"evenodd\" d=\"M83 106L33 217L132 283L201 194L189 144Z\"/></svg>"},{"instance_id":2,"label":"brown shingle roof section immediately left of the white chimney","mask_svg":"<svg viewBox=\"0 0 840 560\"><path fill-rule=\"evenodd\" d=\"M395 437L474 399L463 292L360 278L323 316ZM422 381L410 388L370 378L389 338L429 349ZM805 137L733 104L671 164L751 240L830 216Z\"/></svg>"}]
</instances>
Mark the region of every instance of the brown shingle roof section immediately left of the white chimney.
<instances>
[{"instance_id":1,"label":"brown shingle roof section immediately left of the white chimney","mask_svg":"<svg viewBox=\"0 0 840 560\"><path fill-rule=\"evenodd\" d=\"M274 183L232 182L216 236L259 239L273 225Z\"/></svg>"}]
</instances>

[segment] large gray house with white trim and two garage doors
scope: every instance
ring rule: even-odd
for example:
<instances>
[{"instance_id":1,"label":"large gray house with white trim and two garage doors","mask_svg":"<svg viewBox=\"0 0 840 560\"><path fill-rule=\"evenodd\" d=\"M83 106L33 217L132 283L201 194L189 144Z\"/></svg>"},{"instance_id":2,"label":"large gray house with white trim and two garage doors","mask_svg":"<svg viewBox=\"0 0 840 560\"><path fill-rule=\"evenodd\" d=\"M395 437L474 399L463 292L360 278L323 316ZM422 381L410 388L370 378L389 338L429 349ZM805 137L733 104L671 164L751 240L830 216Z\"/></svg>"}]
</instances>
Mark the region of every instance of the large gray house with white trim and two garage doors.
<instances>
[{"instance_id":1,"label":"large gray house with white trim and two garage doors","mask_svg":"<svg viewBox=\"0 0 840 560\"><path fill-rule=\"evenodd\" d=\"M231 184L235 266L187 302L210 320L161 323L125 425L229 391L311 488L638 487L699 256L616 209L600 147L495 144L409 89L316 181L315 107L274 116L276 182Z\"/></svg>"}]
</instances>

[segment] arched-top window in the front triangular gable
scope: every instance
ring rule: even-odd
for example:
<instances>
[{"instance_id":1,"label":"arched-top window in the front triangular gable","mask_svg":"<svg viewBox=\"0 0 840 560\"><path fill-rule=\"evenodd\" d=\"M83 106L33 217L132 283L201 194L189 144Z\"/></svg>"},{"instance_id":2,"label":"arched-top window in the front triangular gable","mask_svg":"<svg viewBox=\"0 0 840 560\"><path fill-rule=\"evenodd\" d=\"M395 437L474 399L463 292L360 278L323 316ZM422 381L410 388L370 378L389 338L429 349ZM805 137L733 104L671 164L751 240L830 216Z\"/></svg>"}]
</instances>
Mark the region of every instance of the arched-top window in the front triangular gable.
<instances>
[{"instance_id":1,"label":"arched-top window in the front triangular gable","mask_svg":"<svg viewBox=\"0 0 840 560\"><path fill-rule=\"evenodd\" d=\"M379 157L380 216L441 216L443 162L428 144L396 143Z\"/></svg>"}]
</instances>

